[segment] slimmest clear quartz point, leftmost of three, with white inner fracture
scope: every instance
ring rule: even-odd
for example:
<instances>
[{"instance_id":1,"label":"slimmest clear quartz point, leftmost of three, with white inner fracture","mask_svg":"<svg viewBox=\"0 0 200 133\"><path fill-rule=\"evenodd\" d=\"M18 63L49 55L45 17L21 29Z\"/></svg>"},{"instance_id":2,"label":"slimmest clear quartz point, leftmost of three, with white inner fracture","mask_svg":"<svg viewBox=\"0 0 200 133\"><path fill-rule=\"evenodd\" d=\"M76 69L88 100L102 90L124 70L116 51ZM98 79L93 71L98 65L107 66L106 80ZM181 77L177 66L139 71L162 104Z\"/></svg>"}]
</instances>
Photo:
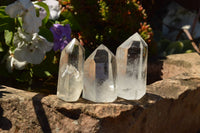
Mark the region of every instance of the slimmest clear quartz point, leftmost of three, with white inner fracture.
<instances>
[{"instance_id":1,"label":"slimmest clear quartz point, leftmost of three, with white inner fracture","mask_svg":"<svg viewBox=\"0 0 200 133\"><path fill-rule=\"evenodd\" d=\"M85 50L73 39L60 57L57 96L64 101L77 101L83 90L83 65Z\"/></svg>"}]
</instances>

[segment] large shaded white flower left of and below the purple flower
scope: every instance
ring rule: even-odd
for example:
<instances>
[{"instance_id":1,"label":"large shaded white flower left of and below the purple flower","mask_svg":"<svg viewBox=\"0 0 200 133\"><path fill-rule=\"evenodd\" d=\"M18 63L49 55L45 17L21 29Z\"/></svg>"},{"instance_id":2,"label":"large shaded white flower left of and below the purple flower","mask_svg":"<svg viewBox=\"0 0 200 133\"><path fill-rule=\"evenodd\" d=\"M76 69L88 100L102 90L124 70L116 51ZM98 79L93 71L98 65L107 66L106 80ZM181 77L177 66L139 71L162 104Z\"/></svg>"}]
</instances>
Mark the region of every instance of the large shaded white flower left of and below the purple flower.
<instances>
[{"instance_id":1,"label":"large shaded white flower left of and below the purple flower","mask_svg":"<svg viewBox=\"0 0 200 133\"><path fill-rule=\"evenodd\" d=\"M37 33L30 35L28 39L25 36L26 33L23 33L20 30L15 33L14 44L17 48L14 51L14 57L18 61L40 64L43 61L46 52L52 49L53 43L48 42L44 37Z\"/></svg>"}]
</instances>

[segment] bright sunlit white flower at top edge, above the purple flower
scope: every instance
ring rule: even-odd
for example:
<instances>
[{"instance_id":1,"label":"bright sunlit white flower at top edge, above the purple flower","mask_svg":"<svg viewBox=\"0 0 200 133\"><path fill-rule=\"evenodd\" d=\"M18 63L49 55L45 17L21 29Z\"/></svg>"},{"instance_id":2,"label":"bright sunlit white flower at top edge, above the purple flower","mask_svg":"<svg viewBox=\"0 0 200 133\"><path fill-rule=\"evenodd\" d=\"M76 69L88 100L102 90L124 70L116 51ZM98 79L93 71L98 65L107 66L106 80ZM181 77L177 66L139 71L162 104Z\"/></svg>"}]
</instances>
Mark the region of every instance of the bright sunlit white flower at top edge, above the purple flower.
<instances>
[{"instance_id":1,"label":"bright sunlit white flower at top edge, above the purple flower","mask_svg":"<svg viewBox=\"0 0 200 133\"><path fill-rule=\"evenodd\" d=\"M49 19L58 19L61 13L59 2L57 0L45 0L43 1L49 7L50 16Z\"/></svg>"}]
</instances>

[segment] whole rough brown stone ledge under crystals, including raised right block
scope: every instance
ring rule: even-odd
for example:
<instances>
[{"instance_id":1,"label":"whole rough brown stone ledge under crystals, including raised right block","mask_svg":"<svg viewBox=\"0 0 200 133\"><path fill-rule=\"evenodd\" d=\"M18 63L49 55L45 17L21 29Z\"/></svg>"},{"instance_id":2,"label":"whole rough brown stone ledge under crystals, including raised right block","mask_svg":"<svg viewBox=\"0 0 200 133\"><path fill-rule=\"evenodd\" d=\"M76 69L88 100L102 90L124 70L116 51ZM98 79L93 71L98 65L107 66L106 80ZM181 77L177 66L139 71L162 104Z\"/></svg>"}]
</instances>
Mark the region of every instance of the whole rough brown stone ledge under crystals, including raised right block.
<instances>
[{"instance_id":1,"label":"whole rough brown stone ledge under crystals, including raised right block","mask_svg":"<svg viewBox=\"0 0 200 133\"><path fill-rule=\"evenodd\" d=\"M93 103L80 98L69 103L56 95L0 85L0 132L200 132L199 61L195 53L168 56L163 61L164 79L148 85L138 101Z\"/></svg>"}]
</instances>

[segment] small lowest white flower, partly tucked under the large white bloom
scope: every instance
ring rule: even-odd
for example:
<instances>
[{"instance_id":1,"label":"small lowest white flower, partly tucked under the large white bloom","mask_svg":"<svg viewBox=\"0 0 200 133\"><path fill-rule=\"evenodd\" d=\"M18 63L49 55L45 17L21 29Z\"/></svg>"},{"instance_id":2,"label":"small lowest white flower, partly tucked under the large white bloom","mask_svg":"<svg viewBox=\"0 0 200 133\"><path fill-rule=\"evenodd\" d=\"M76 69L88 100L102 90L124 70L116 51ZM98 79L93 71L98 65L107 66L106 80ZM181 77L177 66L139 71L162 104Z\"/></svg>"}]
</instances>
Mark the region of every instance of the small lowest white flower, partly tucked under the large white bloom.
<instances>
[{"instance_id":1,"label":"small lowest white flower, partly tucked under the large white bloom","mask_svg":"<svg viewBox=\"0 0 200 133\"><path fill-rule=\"evenodd\" d=\"M13 69L22 70L25 68L27 64L26 61L20 62L17 59L15 59L14 56L11 54L11 52L6 61L7 61L6 66L9 72L12 72Z\"/></svg>"}]
</instances>

